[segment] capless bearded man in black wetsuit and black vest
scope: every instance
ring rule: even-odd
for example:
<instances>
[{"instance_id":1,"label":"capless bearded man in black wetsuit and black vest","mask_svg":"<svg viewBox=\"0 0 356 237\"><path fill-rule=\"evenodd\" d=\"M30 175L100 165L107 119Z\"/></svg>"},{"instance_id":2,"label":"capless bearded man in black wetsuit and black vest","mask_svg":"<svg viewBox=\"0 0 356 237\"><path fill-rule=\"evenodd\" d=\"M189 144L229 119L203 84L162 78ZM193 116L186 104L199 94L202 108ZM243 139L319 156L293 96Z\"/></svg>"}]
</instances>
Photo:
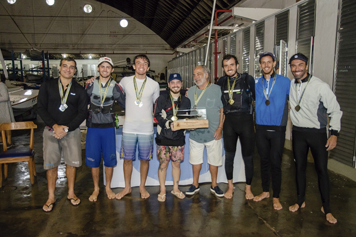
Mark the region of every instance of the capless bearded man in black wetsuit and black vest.
<instances>
[{"instance_id":1,"label":"capless bearded man in black wetsuit and black vest","mask_svg":"<svg viewBox=\"0 0 356 237\"><path fill-rule=\"evenodd\" d=\"M253 176L252 153L255 148L252 100L255 99L255 80L247 73L237 72L239 63L234 55L226 54L222 63L226 76L219 79L221 100L224 105L225 122L223 127L225 148L225 172L228 190L225 198L232 198L234 184L234 157L237 139L240 138L242 158L245 163L246 199L253 199L251 181Z\"/></svg>"}]
</instances>

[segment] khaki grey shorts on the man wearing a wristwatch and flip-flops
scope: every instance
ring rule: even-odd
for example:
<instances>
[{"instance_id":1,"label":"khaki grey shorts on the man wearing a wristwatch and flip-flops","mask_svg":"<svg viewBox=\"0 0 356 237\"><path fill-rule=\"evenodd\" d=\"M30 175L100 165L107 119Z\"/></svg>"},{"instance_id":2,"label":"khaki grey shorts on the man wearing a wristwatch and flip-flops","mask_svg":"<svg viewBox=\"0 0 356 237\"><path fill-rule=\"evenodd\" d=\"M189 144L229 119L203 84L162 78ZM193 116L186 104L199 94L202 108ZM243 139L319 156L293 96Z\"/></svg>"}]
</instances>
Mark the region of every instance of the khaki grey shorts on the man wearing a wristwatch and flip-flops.
<instances>
[{"instance_id":1,"label":"khaki grey shorts on the man wearing a wristwatch and flip-flops","mask_svg":"<svg viewBox=\"0 0 356 237\"><path fill-rule=\"evenodd\" d=\"M61 163L63 154L64 163L69 166L82 165L82 147L80 144L80 129L70 131L62 139L53 136L54 131L49 127L43 130L43 168L53 169Z\"/></svg>"}]
</instances>

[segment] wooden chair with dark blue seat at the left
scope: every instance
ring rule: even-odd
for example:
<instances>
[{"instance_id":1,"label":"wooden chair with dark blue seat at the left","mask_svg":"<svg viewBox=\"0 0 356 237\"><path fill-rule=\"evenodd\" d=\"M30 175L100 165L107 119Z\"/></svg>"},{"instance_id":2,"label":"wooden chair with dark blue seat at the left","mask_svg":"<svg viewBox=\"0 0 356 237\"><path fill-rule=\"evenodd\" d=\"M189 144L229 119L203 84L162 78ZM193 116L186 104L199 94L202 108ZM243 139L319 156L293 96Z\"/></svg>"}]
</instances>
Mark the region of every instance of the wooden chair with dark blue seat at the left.
<instances>
[{"instance_id":1,"label":"wooden chair with dark blue seat at the left","mask_svg":"<svg viewBox=\"0 0 356 237\"><path fill-rule=\"evenodd\" d=\"M0 124L0 131L3 142L4 151L0 153L0 188L2 187L2 164L4 163L4 176L7 178L7 163L15 162L28 162L28 169L30 171L30 181L31 184L35 183L33 176L36 176L36 166L35 166L35 151L33 150L33 135L34 129L37 125L32 121L30 122L17 122L17 123L2 123ZM7 150L5 131L6 130L20 130L20 129L31 129L30 135L30 147L22 147L16 149Z\"/></svg>"}]
</instances>

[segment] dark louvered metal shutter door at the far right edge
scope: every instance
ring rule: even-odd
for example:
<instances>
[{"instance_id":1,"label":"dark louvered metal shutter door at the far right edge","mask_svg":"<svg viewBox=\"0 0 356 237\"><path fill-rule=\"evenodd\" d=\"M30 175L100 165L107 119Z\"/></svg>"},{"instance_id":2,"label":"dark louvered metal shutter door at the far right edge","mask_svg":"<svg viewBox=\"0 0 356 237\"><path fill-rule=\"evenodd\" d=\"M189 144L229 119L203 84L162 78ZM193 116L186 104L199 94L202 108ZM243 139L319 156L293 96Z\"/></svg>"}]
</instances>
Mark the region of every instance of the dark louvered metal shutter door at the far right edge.
<instances>
[{"instance_id":1,"label":"dark louvered metal shutter door at the far right edge","mask_svg":"<svg viewBox=\"0 0 356 237\"><path fill-rule=\"evenodd\" d=\"M340 136L330 157L355 167L356 136L356 5L341 0L334 91L343 112Z\"/></svg>"}]
</instances>

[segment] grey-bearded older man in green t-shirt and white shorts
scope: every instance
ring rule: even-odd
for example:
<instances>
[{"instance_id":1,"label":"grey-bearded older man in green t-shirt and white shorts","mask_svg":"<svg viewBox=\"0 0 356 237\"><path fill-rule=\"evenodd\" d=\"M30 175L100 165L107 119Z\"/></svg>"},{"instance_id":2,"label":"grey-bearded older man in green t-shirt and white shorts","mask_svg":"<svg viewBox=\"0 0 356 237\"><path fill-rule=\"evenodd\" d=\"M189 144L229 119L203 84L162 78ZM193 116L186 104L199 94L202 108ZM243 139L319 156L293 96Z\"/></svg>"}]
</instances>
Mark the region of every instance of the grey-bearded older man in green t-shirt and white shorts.
<instances>
[{"instance_id":1,"label":"grey-bearded older man in green t-shirt and white shorts","mask_svg":"<svg viewBox=\"0 0 356 237\"><path fill-rule=\"evenodd\" d=\"M209 68L197 66L193 71L195 86L188 90L191 109L206 109L208 128L197 128L189 135L189 163L193 165L193 184L185 192L193 195L199 192L199 173L203 163L203 152L206 147L208 153L209 170L211 174L210 191L216 196L224 196L224 192L216 183L218 166L221 166L223 155L222 131L224 124L223 103L221 90L218 85L209 82ZM199 126L198 126L199 127Z\"/></svg>"}]
</instances>

